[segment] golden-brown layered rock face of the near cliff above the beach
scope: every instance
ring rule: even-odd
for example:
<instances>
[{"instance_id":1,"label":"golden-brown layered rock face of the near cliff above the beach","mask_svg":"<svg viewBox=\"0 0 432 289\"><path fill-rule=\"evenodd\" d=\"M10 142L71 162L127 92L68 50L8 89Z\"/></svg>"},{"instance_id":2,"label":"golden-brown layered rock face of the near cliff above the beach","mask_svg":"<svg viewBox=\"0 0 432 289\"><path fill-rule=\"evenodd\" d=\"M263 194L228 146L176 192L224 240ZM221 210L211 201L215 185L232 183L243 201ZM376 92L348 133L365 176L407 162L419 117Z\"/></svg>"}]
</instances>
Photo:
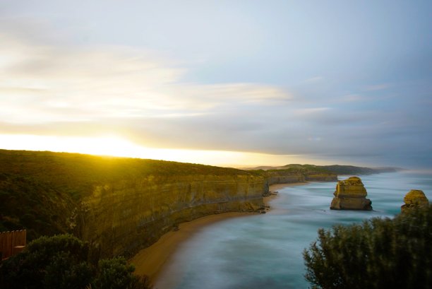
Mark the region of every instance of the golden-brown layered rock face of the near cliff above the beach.
<instances>
[{"instance_id":1,"label":"golden-brown layered rock face of the near cliff above the beach","mask_svg":"<svg viewBox=\"0 0 432 289\"><path fill-rule=\"evenodd\" d=\"M255 211L268 191L253 175L148 176L95 187L82 201L79 234L105 256L133 254L181 222L229 211Z\"/></svg>"}]
</instances>

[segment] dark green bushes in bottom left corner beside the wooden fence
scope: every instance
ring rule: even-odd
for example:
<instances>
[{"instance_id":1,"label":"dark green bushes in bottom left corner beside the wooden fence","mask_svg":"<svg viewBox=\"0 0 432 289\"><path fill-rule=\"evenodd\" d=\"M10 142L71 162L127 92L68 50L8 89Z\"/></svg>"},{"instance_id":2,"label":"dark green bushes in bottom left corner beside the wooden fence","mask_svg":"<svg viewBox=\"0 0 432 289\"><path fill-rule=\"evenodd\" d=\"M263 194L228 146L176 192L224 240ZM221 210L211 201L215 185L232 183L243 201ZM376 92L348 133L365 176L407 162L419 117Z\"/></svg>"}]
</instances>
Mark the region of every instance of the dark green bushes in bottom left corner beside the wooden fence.
<instances>
[{"instance_id":1,"label":"dark green bushes in bottom left corner beside the wooden fence","mask_svg":"<svg viewBox=\"0 0 432 289\"><path fill-rule=\"evenodd\" d=\"M95 247L71 235L40 237L0 263L0 288L146 289L124 258L100 259Z\"/></svg>"}]
</instances>

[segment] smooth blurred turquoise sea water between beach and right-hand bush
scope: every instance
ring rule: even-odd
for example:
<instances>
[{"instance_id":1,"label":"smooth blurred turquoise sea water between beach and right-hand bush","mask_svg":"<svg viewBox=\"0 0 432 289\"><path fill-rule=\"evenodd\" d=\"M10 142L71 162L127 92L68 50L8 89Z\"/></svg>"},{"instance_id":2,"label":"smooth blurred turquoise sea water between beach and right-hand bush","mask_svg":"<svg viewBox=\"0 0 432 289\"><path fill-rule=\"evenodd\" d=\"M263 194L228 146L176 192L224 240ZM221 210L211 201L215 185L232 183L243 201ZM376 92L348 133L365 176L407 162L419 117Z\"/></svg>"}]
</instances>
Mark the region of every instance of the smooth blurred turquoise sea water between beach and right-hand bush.
<instances>
[{"instance_id":1,"label":"smooth blurred turquoise sea water between beach and right-hand bush","mask_svg":"<svg viewBox=\"0 0 432 289\"><path fill-rule=\"evenodd\" d=\"M410 189L423 190L432 201L432 175L398 172L361 179L373 211L330 211L335 182L285 187L269 213L208 225L182 243L155 288L308 288L302 252L316 240L318 228L395 216Z\"/></svg>"}]
</instances>

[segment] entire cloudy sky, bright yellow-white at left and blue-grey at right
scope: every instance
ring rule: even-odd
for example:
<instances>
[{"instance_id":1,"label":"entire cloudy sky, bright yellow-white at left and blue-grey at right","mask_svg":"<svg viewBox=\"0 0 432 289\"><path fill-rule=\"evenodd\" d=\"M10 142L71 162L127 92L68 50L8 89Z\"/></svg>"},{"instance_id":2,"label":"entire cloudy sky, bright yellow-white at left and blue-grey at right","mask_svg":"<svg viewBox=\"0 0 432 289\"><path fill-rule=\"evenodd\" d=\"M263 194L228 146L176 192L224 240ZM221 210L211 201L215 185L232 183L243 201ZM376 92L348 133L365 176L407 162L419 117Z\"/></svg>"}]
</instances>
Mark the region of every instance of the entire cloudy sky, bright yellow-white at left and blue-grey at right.
<instances>
[{"instance_id":1,"label":"entire cloudy sky, bright yellow-white at left and blue-grey at right","mask_svg":"<svg viewBox=\"0 0 432 289\"><path fill-rule=\"evenodd\" d=\"M0 1L0 148L432 168L432 1Z\"/></svg>"}]
</instances>

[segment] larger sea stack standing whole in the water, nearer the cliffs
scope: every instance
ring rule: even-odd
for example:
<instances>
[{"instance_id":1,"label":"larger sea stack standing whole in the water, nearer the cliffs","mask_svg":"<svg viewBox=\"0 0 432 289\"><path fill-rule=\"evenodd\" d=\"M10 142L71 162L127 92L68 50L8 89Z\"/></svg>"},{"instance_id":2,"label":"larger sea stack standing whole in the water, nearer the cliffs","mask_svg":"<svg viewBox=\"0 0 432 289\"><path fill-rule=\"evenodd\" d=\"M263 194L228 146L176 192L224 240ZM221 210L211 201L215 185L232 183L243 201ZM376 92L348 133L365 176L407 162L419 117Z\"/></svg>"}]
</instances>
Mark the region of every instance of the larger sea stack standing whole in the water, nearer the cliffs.
<instances>
[{"instance_id":1,"label":"larger sea stack standing whole in the water, nearer the cliffs","mask_svg":"<svg viewBox=\"0 0 432 289\"><path fill-rule=\"evenodd\" d=\"M334 195L330 205L332 210L372 210L372 202L366 199L368 193L359 177L349 177L337 182Z\"/></svg>"}]
</instances>

